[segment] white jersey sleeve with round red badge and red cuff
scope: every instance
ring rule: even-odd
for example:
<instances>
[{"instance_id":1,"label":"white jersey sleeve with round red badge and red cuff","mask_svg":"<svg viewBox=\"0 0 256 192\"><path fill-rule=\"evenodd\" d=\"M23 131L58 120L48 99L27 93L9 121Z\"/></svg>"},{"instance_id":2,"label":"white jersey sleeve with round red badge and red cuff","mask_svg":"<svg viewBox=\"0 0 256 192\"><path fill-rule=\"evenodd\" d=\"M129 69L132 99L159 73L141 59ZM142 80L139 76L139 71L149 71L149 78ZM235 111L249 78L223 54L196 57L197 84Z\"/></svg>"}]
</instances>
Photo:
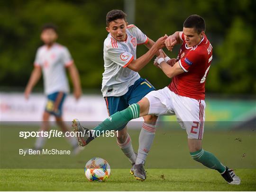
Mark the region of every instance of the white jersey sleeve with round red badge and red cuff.
<instances>
[{"instance_id":1,"label":"white jersey sleeve with round red badge and red cuff","mask_svg":"<svg viewBox=\"0 0 256 192\"><path fill-rule=\"evenodd\" d=\"M121 67L127 67L133 60L133 55L126 50L120 48L112 48L108 50L109 59Z\"/></svg>"}]
</instances>

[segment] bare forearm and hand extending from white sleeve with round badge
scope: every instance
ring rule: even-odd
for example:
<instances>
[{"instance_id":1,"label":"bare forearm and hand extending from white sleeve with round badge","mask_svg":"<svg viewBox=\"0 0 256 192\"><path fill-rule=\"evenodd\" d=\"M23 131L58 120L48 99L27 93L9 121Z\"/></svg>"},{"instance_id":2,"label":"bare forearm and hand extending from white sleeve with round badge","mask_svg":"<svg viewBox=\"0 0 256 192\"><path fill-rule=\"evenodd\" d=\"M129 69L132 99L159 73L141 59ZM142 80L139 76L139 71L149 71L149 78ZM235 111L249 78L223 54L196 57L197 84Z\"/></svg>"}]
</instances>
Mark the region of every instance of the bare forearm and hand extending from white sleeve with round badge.
<instances>
[{"instance_id":1,"label":"bare forearm and hand extending from white sleeve with round badge","mask_svg":"<svg viewBox=\"0 0 256 192\"><path fill-rule=\"evenodd\" d=\"M167 35L160 37L150 50L136 60L133 60L127 67L136 72L140 71L155 56L156 52L165 46L165 40L167 37Z\"/></svg>"}]
</instances>

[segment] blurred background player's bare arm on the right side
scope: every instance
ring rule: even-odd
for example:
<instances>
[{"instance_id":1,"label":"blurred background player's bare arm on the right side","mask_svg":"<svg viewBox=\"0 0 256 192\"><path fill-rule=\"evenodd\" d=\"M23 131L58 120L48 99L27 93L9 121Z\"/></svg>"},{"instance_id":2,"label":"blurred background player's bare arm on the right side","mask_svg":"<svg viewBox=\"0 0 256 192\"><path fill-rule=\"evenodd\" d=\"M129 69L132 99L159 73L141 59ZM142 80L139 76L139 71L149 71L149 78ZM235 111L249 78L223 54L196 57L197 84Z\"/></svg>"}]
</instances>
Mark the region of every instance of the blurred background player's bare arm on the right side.
<instances>
[{"instance_id":1,"label":"blurred background player's bare arm on the right side","mask_svg":"<svg viewBox=\"0 0 256 192\"><path fill-rule=\"evenodd\" d=\"M74 97L75 99L79 99L82 95L82 89L80 83L80 76L74 63L68 66L68 71L74 86Z\"/></svg>"}]
</instances>

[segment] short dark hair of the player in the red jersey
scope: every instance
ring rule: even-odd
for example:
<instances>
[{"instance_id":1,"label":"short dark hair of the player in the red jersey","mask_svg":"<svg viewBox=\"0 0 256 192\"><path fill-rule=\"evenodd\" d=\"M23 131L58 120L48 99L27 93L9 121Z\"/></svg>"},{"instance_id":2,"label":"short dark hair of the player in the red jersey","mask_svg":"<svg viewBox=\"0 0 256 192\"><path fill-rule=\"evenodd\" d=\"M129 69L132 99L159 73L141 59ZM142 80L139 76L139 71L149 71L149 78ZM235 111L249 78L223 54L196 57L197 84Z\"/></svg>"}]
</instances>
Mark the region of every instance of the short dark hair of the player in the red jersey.
<instances>
[{"instance_id":1,"label":"short dark hair of the player in the red jersey","mask_svg":"<svg viewBox=\"0 0 256 192\"><path fill-rule=\"evenodd\" d=\"M183 23L185 28L195 28L198 34L205 31L205 21L203 17L199 15L191 15Z\"/></svg>"}]
</instances>

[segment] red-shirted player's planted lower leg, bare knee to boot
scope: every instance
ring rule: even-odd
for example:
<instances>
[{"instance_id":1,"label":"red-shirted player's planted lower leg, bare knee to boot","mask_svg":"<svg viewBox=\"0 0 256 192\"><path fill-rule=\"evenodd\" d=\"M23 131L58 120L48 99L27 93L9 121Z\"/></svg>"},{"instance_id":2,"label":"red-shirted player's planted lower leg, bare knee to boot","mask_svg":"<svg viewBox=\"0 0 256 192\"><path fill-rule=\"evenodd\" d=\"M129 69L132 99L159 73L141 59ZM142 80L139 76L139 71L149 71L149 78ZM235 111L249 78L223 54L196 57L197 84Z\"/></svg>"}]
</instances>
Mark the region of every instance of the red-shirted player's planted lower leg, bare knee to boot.
<instances>
[{"instance_id":1,"label":"red-shirted player's planted lower leg, bare knee to boot","mask_svg":"<svg viewBox=\"0 0 256 192\"><path fill-rule=\"evenodd\" d=\"M223 166L212 153L202 149L202 140L188 139L188 146L192 159L200 162L206 167L219 171L221 176L229 184L240 184L240 178L234 173L232 169Z\"/></svg>"}]
</instances>

